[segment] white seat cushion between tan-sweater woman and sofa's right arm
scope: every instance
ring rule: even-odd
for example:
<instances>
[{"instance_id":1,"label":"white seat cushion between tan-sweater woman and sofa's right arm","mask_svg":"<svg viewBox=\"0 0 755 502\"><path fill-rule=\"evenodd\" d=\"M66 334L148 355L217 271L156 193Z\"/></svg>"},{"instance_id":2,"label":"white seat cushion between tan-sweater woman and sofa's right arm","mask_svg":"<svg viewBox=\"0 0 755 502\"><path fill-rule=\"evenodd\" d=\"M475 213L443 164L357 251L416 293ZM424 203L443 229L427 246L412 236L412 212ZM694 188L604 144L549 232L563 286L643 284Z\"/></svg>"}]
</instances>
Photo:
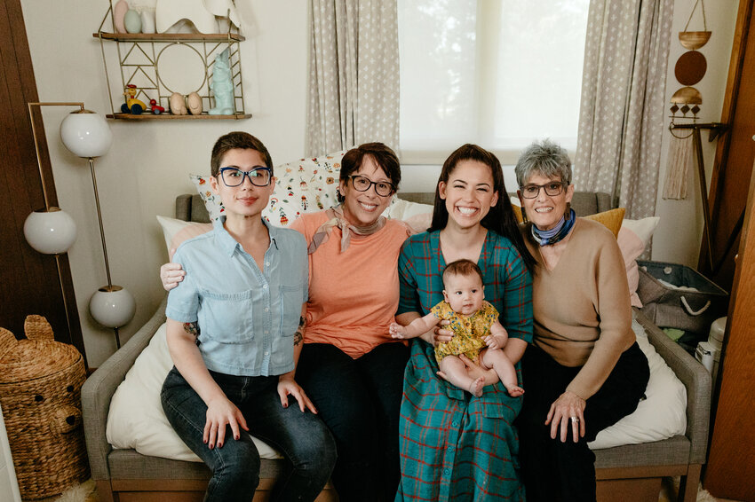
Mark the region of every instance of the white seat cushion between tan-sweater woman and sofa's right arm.
<instances>
[{"instance_id":1,"label":"white seat cushion between tan-sweater woman and sofa's right arm","mask_svg":"<svg viewBox=\"0 0 755 502\"><path fill-rule=\"evenodd\" d=\"M645 389L647 398L640 401L631 415L601 430L595 441L587 443L591 450L661 441L684 435L687 430L687 388L658 355L645 329L634 319L632 330L650 366L650 380Z\"/></svg>"}]
</instances>

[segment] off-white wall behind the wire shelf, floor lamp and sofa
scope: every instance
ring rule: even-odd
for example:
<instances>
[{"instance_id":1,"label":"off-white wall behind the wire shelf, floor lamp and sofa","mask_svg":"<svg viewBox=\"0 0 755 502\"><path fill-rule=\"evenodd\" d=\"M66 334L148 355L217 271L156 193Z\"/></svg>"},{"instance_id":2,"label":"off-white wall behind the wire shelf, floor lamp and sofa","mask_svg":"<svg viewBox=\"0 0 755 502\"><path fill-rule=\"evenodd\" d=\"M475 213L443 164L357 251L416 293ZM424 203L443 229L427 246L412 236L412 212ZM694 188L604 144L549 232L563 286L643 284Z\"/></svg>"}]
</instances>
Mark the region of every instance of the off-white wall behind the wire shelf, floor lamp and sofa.
<instances>
[{"instance_id":1,"label":"off-white wall behind the wire shelf, floor lamp and sofa","mask_svg":"<svg viewBox=\"0 0 755 502\"><path fill-rule=\"evenodd\" d=\"M107 2L21 0L21 4L40 100L83 101L94 111L109 113L99 42L91 36L107 11ZM172 216L175 196L194 191L187 175L207 172L215 139L232 129L249 131L265 142L275 163L295 160L304 153L309 43L306 2L249 0L245 4L249 7L245 10L253 13L247 40L241 44L243 92L251 119L110 122L114 145L96 161L108 258L115 284L128 288L137 300L136 316L121 329L122 341L144 324L164 295L157 271L167 261L167 254L155 216ZM694 4L695 0L675 2L674 32L683 28ZM707 74L696 86L703 93L705 121L719 120L736 4L735 0L719 0L715 9L709 6L706 12L713 36L702 50L708 59ZM110 53L113 46L107 47ZM669 97L678 89L673 66L682 52L674 40ZM114 64L115 59L108 60L108 65ZM117 85L119 82L114 87ZM88 312L89 297L107 280L89 169L86 162L68 153L58 137L58 124L65 114L64 109L44 108L44 122L60 206L79 227L68 255L87 357L90 365L98 366L115 350L115 338ZM667 136L664 133L662 178ZM704 148L710 172L713 151L711 145ZM437 167L405 169L401 188L408 192L432 190L438 172ZM690 182L696 183L694 179ZM696 194L696 184L693 186L691 192ZM661 223L654 259L694 264L702 227L699 202L661 200L657 214Z\"/></svg>"}]
</instances>

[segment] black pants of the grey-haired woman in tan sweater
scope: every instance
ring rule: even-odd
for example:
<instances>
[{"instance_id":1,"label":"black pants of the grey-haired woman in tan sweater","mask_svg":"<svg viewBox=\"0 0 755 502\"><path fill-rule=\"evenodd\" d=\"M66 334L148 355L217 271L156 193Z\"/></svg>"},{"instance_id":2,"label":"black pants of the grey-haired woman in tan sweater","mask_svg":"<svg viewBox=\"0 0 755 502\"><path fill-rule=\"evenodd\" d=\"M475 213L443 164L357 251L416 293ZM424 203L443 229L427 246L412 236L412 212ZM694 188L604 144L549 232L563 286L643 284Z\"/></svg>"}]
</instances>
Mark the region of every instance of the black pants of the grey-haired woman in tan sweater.
<instances>
[{"instance_id":1,"label":"black pants of the grey-haired woman in tan sweater","mask_svg":"<svg viewBox=\"0 0 755 502\"><path fill-rule=\"evenodd\" d=\"M577 443L567 435L551 439L545 417L581 366L556 363L535 345L521 359L527 393L515 424L519 427L521 474L528 502L590 502L595 500L595 455L587 443L606 427L634 412L648 386L648 359L635 342L619 357L608 380L587 400L585 435Z\"/></svg>"}]
</instances>

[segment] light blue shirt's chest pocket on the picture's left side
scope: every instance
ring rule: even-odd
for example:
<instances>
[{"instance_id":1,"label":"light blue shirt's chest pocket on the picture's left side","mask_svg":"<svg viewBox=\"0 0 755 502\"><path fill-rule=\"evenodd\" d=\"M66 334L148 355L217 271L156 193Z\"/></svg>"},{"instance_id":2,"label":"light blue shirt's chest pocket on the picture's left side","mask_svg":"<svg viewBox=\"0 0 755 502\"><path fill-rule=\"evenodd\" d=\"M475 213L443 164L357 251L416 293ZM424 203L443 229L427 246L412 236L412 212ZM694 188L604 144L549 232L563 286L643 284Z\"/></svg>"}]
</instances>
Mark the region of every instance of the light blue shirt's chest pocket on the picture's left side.
<instances>
[{"instance_id":1,"label":"light blue shirt's chest pocket on the picture's left side","mask_svg":"<svg viewBox=\"0 0 755 502\"><path fill-rule=\"evenodd\" d=\"M239 293L202 292L199 326L216 326L212 333L204 333L220 343L248 343L254 339L255 301L262 302L253 290Z\"/></svg>"}]
</instances>

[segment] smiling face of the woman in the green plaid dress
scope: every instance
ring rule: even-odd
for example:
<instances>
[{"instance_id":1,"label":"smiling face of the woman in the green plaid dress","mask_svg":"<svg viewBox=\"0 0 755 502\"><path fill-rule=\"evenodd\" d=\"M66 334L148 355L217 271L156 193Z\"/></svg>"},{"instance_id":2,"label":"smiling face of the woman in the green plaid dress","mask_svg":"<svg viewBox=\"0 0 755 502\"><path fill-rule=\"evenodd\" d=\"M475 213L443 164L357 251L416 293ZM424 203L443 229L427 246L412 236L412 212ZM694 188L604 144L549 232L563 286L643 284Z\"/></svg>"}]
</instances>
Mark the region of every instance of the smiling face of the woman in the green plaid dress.
<instances>
[{"instance_id":1,"label":"smiling face of the woman in the green plaid dress","mask_svg":"<svg viewBox=\"0 0 755 502\"><path fill-rule=\"evenodd\" d=\"M470 228L480 224L498 201L493 174L480 161L459 161L447 183L439 182L438 192L446 201L449 224Z\"/></svg>"}]
</instances>

